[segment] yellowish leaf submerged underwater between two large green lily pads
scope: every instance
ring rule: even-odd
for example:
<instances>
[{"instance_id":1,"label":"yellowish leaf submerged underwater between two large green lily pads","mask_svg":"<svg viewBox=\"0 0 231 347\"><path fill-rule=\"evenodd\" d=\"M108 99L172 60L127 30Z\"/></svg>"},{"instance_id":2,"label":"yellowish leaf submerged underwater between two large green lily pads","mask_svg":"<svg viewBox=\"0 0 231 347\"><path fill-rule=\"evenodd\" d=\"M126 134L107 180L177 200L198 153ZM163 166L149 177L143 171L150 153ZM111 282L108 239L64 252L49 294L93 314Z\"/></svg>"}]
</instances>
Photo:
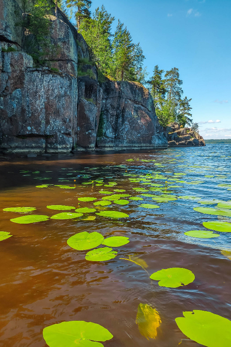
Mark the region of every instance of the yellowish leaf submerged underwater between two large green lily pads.
<instances>
[{"instance_id":1,"label":"yellowish leaf submerged underwater between two large green lily pads","mask_svg":"<svg viewBox=\"0 0 231 347\"><path fill-rule=\"evenodd\" d=\"M138 324L139 332L146 339L156 339L157 328L161 325L161 317L155 308L148 304L139 304L136 324Z\"/></svg>"}]
</instances>

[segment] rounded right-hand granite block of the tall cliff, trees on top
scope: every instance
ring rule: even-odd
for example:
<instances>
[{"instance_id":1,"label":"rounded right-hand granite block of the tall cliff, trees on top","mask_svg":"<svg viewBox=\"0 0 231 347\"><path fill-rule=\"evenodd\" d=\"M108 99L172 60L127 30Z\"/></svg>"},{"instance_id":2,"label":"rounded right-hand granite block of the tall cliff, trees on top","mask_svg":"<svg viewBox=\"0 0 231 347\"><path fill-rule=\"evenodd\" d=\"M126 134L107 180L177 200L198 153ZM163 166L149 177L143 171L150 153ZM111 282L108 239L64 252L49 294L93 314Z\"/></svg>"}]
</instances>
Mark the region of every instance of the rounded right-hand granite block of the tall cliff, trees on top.
<instances>
[{"instance_id":1,"label":"rounded right-hand granite block of the tall cliff, trees on top","mask_svg":"<svg viewBox=\"0 0 231 347\"><path fill-rule=\"evenodd\" d=\"M138 82L103 83L97 146L102 149L167 148L149 91Z\"/></svg>"}]
</instances>

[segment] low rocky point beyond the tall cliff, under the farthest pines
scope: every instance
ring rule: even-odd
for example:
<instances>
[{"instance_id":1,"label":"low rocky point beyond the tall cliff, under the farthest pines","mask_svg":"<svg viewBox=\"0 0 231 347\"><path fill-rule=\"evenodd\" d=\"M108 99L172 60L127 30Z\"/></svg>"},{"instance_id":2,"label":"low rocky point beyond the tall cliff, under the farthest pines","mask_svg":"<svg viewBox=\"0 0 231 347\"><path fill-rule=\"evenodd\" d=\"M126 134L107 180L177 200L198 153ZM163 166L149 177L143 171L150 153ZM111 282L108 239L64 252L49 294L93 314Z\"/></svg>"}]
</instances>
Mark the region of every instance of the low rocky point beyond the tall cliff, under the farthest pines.
<instances>
[{"instance_id":1,"label":"low rocky point beyond the tall cliff, under the farthest pines","mask_svg":"<svg viewBox=\"0 0 231 347\"><path fill-rule=\"evenodd\" d=\"M169 146L205 146L205 141L191 128L180 128L178 123L171 123L167 128Z\"/></svg>"}]
</instances>

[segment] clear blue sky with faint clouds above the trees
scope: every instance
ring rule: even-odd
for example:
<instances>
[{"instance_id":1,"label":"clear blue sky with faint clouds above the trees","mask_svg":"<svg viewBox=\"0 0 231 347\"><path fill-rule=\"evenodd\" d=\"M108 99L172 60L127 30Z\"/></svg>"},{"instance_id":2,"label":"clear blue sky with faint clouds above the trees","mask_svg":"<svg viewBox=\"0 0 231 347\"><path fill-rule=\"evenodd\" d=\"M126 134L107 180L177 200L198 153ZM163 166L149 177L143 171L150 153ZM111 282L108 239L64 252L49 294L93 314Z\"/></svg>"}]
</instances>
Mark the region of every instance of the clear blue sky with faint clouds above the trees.
<instances>
[{"instance_id":1,"label":"clear blue sky with faint clouds above the trees","mask_svg":"<svg viewBox=\"0 0 231 347\"><path fill-rule=\"evenodd\" d=\"M145 66L179 69L205 139L231 139L231 0L92 0L140 42ZM116 25L115 21L115 25Z\"/></svg>"}]
</instances>

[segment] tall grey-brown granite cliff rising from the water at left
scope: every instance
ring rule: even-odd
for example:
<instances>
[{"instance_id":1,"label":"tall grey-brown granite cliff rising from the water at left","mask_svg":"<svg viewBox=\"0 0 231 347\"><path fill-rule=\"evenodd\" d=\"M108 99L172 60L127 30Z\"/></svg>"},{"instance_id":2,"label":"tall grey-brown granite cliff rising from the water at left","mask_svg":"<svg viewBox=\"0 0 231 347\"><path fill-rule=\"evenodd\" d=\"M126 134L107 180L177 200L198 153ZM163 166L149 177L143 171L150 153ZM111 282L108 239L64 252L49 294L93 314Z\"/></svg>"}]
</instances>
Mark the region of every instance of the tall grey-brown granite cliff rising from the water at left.
<instances>
[{"instance_id":1,"label":"tall grey-brown granite cliff rising from the water at left","mask_svg":"<svg viewBox=\"0 0 231 347\"><path fill-rule=\"evenodd\" d=\"M39 67L23 47L21 18L20 0L0 0L1 151L168 146L148 90L100 84L86 42L60 10L49 16L52 50Z\"/></svg>"}]
</instances>

